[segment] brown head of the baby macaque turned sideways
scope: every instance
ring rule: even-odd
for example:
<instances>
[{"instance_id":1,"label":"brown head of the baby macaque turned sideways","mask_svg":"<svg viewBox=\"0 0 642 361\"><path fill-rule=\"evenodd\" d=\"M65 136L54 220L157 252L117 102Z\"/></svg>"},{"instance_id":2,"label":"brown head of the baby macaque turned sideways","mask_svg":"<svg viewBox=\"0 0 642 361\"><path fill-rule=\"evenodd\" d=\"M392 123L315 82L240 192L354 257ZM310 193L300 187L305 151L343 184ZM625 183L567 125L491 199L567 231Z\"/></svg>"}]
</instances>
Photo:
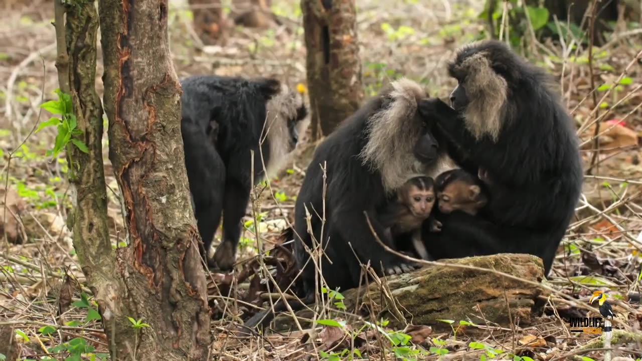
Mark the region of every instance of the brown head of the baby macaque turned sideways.
<instances>
[{"instance_id":1,"label":"brown head of the baby macaque turned sideways","mask_svg":"<svg viewBox=\"0 0 642 361\"><path fill-rule=\"evenodd\" d=\"M487 173L480 170L482 177ZM488 203L482 180L462 169L441 173L435 179L437 207L441 213L463 211L476 215Z\"/></svg>"}]
</instances>

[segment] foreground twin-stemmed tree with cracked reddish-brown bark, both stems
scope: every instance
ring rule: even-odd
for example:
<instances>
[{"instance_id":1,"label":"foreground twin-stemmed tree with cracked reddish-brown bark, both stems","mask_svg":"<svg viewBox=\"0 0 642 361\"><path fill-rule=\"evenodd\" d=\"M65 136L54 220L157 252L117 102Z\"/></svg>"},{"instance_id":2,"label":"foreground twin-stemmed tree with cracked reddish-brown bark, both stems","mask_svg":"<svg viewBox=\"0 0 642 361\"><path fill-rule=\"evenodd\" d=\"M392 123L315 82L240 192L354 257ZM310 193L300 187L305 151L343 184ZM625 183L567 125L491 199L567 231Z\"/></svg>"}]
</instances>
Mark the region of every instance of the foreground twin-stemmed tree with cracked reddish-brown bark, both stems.
<instances>
[{"instance_id":1,"label":"foreground twin-stemmed tree with cracked reddish-brown bark, both stems","mask_svg":"<svg viewBox=\"0 0 642 361\"><path fill-rule=\"evenodd\" d=\"M72 95L89 148L84 154L69 147L77 192L69 224L112 360L205 360L209 308L189 211L168 2L100 0L110 159L129 241L116 252L107 226L103 110L94 88L98 15L91 1L72 3L65 35L63 6L56 0L60 88ZM150 327L137 330L128 317Z\"/></svg>"}]
</instances>

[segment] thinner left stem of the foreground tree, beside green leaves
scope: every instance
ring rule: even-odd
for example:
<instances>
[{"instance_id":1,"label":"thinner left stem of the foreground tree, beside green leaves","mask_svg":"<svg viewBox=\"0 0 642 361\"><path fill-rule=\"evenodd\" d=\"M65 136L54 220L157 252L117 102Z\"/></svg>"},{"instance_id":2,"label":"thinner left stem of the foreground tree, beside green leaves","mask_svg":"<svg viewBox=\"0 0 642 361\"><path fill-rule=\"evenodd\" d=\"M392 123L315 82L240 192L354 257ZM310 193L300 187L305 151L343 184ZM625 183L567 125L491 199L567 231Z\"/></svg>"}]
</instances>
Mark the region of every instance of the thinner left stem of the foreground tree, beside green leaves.
<instances>
[{"instance_id":1,"label":"thinner left stem of the foreground tree, beside green leaves","mask_svg":"<svg viewBox=\"0 0 642 361\"><path fill-rule=\"evenodd\" d=\"M126 286L117 272L107 224L107 191L101 142L103 108L95 87L98 13L92 2L74 4L65 8L61 0L55 0L54 5L58 83L62 92L71 94L73 112L78 128L83 132L82 141L88 149L86 154L74 146L66 149L73 196L73 211L67 218L67 225L73 231L78 261L87 279L87 286L98 303L105 333L108 337L119 335L125 340L133 339L134 330L126 324L127 319L113 317L115 314L133 312L132 308L122 303L123 300L114 297L124 295Z\"/></svg>"}]
</instances>

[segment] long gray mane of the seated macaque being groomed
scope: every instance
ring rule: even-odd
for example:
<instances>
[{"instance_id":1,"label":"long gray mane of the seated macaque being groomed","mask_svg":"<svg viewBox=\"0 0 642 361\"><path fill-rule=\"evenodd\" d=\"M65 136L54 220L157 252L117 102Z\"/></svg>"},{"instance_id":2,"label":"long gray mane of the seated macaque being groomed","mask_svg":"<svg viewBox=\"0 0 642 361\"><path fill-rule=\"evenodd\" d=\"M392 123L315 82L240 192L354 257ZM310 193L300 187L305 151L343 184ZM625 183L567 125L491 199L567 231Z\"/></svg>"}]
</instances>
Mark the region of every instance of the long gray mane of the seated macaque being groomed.
<instances>
[{"instance_id":1,"label":"long gray mane of the seated macaque being groomed","mask_svg":"<svg viewBox=\"0 0 642 361\"><path fill-rule=\"evenodd\" d=\"M359 154L364 165L379 170L383 188L389 194L412 177L435 177L455 167L447 155L430 166L417 161L413 148L423 130L422 121L416 116L417 103L428 94L407 78L399 78L390 85L392 101L386 109L374 112L367 120L369 140Z\"/></svg>"}]
</instances>

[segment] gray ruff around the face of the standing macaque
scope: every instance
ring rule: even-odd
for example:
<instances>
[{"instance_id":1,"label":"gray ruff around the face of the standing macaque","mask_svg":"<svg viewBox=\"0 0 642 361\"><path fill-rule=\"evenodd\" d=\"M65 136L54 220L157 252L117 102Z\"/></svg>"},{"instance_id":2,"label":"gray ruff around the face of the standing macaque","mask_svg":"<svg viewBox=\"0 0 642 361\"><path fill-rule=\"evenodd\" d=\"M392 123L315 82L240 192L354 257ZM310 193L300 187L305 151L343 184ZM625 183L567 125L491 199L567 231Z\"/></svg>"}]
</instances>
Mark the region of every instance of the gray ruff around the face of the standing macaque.
<instances>
[{"instance_id":1,"label":"gray ruff around the face of the standing macaque","mask_svg":"<svg viewBox=\"0 0 642 361\"><path fill-rule=\"evenodd\" d=\"M297 109L303 105L303 101L301 94L290 91L285 84L281 85L281 91L278 94L268 100L264 129L267 131L268 141L270 141L270 159L265 166L267 179L274 177L291 159L295 146L290 144L288 119L296 118ZM309 117L299 122L297 125L299 137L304 134L308 125Z\"/></svg>"}]
</instances>

